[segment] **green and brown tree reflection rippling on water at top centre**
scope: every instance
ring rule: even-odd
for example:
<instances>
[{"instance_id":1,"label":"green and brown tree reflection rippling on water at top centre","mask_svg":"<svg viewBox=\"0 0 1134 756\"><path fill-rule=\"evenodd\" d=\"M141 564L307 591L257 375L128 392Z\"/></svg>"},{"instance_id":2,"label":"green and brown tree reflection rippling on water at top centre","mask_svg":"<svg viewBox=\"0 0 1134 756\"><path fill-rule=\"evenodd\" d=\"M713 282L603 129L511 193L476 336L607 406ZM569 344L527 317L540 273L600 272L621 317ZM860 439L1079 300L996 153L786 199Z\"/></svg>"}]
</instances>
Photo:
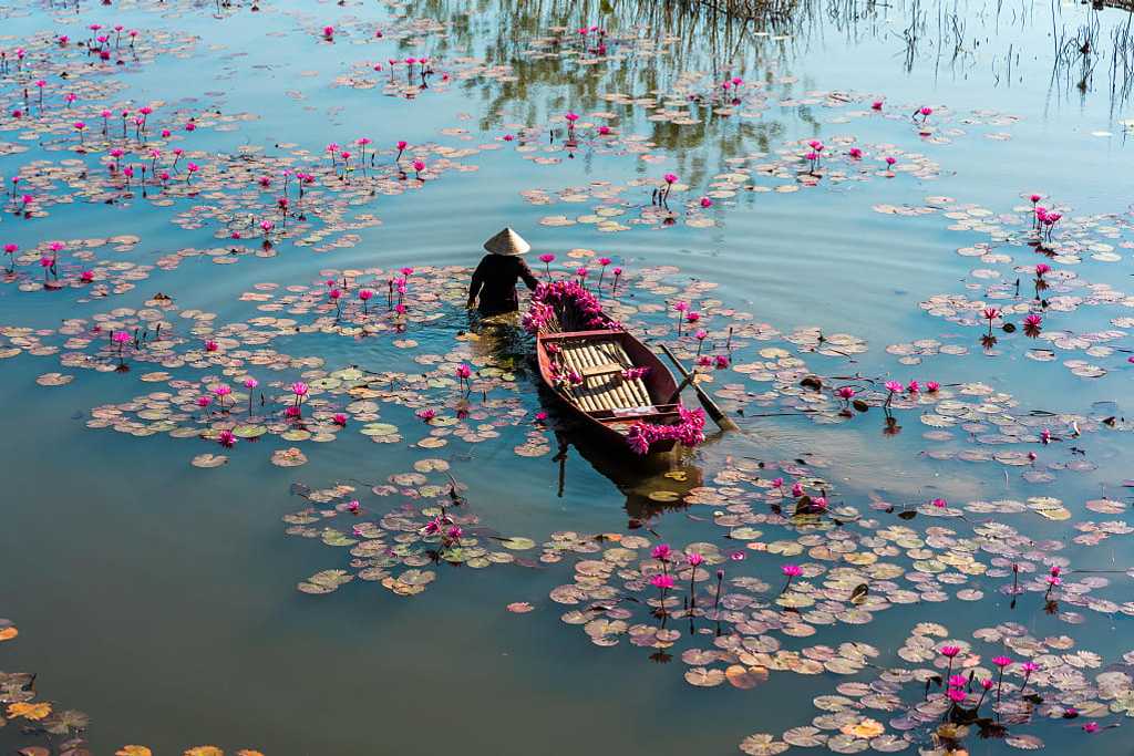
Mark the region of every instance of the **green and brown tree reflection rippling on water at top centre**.
<instances>
[{"instance_id":1,"label":"green and brown tree reflection rippling on water at top centre","mask_svg":"<svg viewBox=\"0 0 1134 756\"><path fill-rule=\"evenodd\" d=\"M508 80L482 78L462 84L468 96L479 97L483 103L480 127L484 130L499 129L507 121L535 125L572 109L587 112L617 108L621 111L624 105L613 107L603 95L623 92L633 96L658 96L672 91L684 71L703 70L714 80L725 76L747 77L758 66L759 70L767 71L769 63L787 61L790 42L776 37L789 35L788 25L794 23L784 16L756 22L692 12L685 3L626 0L486 2L477 5L475 14L464 3L451 0L422 0L413 3L408 12L449 23L449 33L435 41L434 57L472 53L483 57L488 66L511 67L513 76ZM659 48L665 44L665 56L631 53L618 63L581 67L558 57L525 53L531 40L551 35L551 27L574 29L593 24L601 24L610 37L650 40ZM761 36L753 32L760 32ZM488 42L483 43L484 40ZM574 49L574 45L573 36L565 35L561 46ZM414 48L407 45L405 49ZM618 45L612 43L611 53L617 51ZM770 75L767 80L771 82ZM786 96L786 92L778 95ZM661 101L659 96L659 105ZM767 118L719 116L710 104L693 104L692 110L702 124L679 126L638 119L642 112L636 108L619 112L619 117L627 124L625 130L631 130L628 124L634 122L633 130L645 135L659 148L679 152L678 169L683 179L692 182L701 182L705 176L718 171L716 164L708 164L700 147L710 148L716 160L752 148L767 151L785 135L782 124Z\"/></svg>"}]
</instances>

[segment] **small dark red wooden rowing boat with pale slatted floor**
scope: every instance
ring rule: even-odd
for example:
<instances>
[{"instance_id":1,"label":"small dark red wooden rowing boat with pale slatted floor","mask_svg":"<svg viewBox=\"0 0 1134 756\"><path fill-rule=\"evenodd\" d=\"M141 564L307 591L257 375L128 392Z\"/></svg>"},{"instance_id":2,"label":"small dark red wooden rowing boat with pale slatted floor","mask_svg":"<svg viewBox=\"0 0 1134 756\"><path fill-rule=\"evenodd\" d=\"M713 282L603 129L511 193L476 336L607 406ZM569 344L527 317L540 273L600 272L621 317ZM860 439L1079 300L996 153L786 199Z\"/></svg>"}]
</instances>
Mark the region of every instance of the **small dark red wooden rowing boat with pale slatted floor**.
<instances>
[{"instance_id":1,"label":"small dark red wooden rowing boat with pale slatted floor","mask_svg":"<svg viewBox=\"0 0 1134 756\"><path fill-rule=\"evenodd\" d=\"M640 423L684 422L672 374L626 331L541 331L535 341L543 383L611 445L629 450L628 436ZM575 382L565 379L572 374ZM658 439L650 443L649 455L667 455L676 444L676 439Z\"/></svg>"}]
</instances>

